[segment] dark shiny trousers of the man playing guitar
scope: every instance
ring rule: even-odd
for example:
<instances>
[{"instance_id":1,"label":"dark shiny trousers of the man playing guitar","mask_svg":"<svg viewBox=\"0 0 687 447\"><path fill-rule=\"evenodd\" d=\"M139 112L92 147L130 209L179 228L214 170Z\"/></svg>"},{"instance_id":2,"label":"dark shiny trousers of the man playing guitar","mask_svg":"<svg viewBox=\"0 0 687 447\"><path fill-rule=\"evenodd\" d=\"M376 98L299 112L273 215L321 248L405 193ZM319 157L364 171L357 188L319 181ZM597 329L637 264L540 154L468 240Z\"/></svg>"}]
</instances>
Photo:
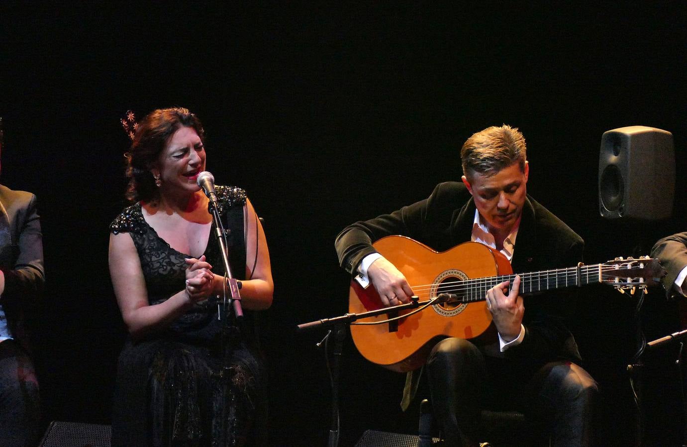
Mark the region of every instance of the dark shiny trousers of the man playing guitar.
<instances>
[{"instance_id":1,"label":"dark shiny trousers of the man playing guitar","mask_svg":"<svg viewBox=\"0 0 687 447\"><path fill-rule=\"evenodd\" d=\"M447 446L477 446L482 409L517 410L544 424L554 446L589 446L596 382L579 365L533 366L488 357L464 339L437 343L427 361L434 415Z\"/></svg>"}]
</instances>

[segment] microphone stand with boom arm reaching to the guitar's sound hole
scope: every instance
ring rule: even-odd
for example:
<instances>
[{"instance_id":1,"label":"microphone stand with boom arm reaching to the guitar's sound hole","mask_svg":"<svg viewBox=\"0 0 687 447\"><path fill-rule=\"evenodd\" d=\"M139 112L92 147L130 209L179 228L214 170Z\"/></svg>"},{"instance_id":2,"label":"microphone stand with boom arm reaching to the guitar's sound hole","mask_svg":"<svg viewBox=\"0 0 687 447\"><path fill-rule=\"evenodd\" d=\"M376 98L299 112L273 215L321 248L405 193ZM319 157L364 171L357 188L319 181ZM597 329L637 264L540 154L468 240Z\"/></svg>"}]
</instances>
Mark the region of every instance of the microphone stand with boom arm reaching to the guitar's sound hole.
<instances>
[{"instance_id":1,"label":"microphone stand with boom arm reaching to the guitar's sound hole","mask_svg":"<svg viewBox=\"0 0 687 447\"><path fill-rule=\"evenodd\" d=\"M297 326L297 329L302 332L304 330L313 330L317 328L328 328L330 326L334 326L333 333L334 333L334 340L335 340L335 346L334 346L334 358L332 361L332 371L331 371L331 380L332 380L332 424L331 428L329 430L329 440L328 440L328 447L337 447L339 445L339 373L341 370L341 351L343 350L343 339L346 338L346 325L350 325L351 323L357 321L358 319L363 319L363 318L369 318L369 317L376 317L378 315L389 315L389 314L396 314L398 311L403 311L407 309L417 309L420 306L424 306L425 304L439 304L441 302L447 302L448 300L451 300L455 295L448 295L446 293L442 293L438 297L434 298L433 300L427 300L420 302L418 301L417 296L412 296L411 297L411 302L407 304L401 304L398 306L392 306L392 307L385 307L383 309L377 309L376 311L369 311L369 312L362 312L362 313L346 313L344 315L339 315L338 317L333 317L333 318L325 318L325 319L318 319L314 322L309 322L309 323L304 323L304 324L299 324ZM332 331L330 331L331 333ZM330 333L328 333L325 337L324 340L326 340ZM323 341L324 341L323 340ZM320 346L322 344L322 341L320 343L317 343L317 346Z\"/></svg>"}]
</instances>

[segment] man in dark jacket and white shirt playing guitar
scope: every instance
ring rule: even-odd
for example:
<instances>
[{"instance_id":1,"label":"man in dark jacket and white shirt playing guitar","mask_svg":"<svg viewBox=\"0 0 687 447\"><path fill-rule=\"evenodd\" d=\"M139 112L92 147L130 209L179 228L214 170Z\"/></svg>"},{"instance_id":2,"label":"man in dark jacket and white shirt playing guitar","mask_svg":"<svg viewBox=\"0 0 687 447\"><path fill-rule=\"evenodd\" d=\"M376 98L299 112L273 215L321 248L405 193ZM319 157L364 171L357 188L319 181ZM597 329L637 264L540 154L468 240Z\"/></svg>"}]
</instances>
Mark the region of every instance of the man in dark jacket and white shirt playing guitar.
<instances>
[{"instance_id":1,"label":"man in dark jacket and white shirt playing guitar","mask_svg":"<svg viewBox=\"0 0 687 447\"><path fill-rule=\"evenodd\" d=\"M529 166L517 128L473 134L460 152L462 184L439 184L426 199L389 215L359 221L337 237L341 267L369 280L385 306L409 302L412 285L372 243L400 234L443 252L476 241L501 252L516 272L571 267L584 242L526 193ZM520 278L489 289L486 307L498 332L492 346L446 338L427 360L433 412L448 446L475 446L480 410L519 409L546 423L556 446L589 445L594 379L576 363L565 326L570 292L519 296ZM431 311L431 309L427 309ZM415 373L418 373L416 371ZM406 382L404 409L419 374Z\"/></svg>"}]
</instances>

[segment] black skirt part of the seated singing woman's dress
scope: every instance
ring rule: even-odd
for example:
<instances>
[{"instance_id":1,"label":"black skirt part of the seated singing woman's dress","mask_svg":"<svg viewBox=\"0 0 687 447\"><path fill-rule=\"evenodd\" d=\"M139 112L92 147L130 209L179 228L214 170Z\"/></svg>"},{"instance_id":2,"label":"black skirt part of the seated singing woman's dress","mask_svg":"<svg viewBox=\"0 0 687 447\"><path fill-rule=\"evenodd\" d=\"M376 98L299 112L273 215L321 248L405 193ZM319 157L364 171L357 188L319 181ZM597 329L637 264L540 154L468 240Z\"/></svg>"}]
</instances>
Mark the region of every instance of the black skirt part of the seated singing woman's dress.
<instances>
[{"instance_id":1,"label":"black skirt part of the seated singing woman's dress","mask_svg":"<svg viewBox=\"0 0 687 447\"><path fill-rule=\"evenodd\" d=\"M129 340L117 366L112 446L267 445L265 379L242 342Z\"/></svg>"}]
</instances>

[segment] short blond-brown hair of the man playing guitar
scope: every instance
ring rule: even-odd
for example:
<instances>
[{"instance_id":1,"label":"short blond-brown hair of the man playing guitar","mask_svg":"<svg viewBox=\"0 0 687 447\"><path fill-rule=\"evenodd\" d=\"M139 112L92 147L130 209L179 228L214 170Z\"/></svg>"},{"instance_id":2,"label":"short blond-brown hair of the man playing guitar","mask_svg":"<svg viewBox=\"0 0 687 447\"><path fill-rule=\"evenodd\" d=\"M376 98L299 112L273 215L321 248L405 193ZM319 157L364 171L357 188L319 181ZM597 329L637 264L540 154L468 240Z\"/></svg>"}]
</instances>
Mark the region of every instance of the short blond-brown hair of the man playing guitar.
<instances>
[{"instance_id":1,"label":"short blond-brown hair of the man playing guitar","mask_svg":"<svg viewBox=\"0 0 687 447\"><path fill-rule=\"evenodd\" d=\"M525 137L510 125L492 126L473 134L460 149L463 173L471 178L473 173L491 176L517 162L525 171L527 147Z\"/></svg>"}]
</instances>

